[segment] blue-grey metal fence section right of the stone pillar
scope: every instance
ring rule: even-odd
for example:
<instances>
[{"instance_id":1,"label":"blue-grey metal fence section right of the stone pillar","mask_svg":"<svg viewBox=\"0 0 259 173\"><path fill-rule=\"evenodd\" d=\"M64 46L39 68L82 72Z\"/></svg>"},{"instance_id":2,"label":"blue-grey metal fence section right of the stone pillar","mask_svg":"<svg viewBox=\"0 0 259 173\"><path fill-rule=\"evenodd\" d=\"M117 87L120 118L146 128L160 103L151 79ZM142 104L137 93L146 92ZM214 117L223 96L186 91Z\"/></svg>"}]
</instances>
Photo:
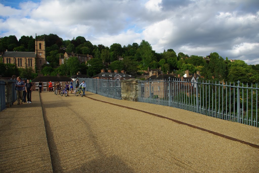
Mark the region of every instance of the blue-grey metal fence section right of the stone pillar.
<instances>
[{"instance_id":1,"label":"blue-grey metal fence section right of the stone pillar","mask_svg":"<svg viewBox=\"0 0 259 173\"><path fill-rule=\"evenodd\" d=\"M139 81L138 101L171 106L252 126L258 123L258 85L240 82Z\"/></svg>"}]
</instances>

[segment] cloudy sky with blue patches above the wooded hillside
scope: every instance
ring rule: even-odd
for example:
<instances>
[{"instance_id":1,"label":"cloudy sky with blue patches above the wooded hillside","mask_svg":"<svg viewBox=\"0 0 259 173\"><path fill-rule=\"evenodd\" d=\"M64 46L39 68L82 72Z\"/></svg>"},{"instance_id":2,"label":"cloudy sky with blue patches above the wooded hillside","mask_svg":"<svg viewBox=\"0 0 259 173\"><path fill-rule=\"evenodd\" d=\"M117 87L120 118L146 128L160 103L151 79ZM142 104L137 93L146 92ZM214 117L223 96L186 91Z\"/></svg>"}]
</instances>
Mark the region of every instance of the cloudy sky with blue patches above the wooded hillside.
<instances>
[{"instance_id":1,"label":"cloudy sky with blue patches above the wooded hillside","mask_svg":"<svg viewBox=\"0 0 259 173\"><path fill-rule=\"evenodd\" d=\"M36 33L259 64L259 0L0 0L1 37Z\"/></svg>"}]
</instances>

